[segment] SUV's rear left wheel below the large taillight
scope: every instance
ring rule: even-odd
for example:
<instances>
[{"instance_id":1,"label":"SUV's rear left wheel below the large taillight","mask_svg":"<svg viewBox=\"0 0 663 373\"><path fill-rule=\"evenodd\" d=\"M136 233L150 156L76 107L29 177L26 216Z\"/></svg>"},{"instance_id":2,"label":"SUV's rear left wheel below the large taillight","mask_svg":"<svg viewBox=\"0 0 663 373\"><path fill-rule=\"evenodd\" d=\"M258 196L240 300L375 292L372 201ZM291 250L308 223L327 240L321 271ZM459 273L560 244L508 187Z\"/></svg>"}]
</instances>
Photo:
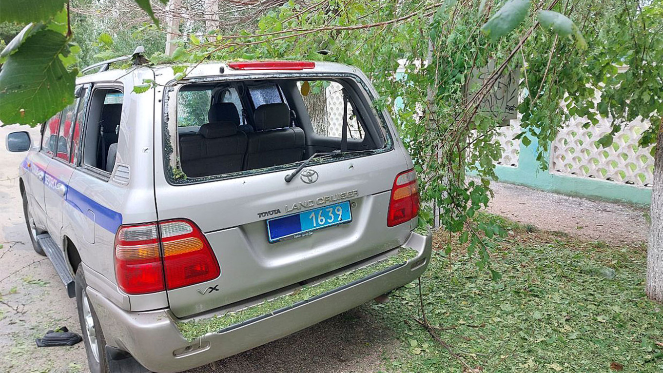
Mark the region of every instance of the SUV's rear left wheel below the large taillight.
<instances>
[{"instance_id":1,"label":"SUV's rear left wheel below the large taillight","mask_svg":"<svg viewBox=\"0 0 663 373\"><path fill-rule=\"evenodd\" d=\"M81 334L85 343L88 365L91 373L110 373L107 356L105 353L106 339L103 337L101 325L97 313L92 307L86 288L83 266L78 265L76 271L76 308L78 309L78 321L81 325ZM93 334L93 336L91 336Z\"/></svg>"}]
</instances>

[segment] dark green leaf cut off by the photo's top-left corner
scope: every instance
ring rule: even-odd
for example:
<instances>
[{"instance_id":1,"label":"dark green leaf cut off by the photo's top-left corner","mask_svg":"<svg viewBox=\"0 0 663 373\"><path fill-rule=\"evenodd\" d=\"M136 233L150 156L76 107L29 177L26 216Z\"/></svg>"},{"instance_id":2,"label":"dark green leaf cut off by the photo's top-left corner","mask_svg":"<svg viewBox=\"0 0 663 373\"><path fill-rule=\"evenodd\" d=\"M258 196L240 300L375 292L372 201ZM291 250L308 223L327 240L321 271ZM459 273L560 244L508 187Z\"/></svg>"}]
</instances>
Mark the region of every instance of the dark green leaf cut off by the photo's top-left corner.
<instances>
[{"instance_id":1,"label":"dark green leaf cut off by the photo's top-left corner","mask_svg":"<svg viewBox=\"0 0 663 373\"><path fill-rule=\"evenodd\" d=\"M0 22L48 21L64 8L67 0L2 0Z\"/></svg>"}]
</instances>

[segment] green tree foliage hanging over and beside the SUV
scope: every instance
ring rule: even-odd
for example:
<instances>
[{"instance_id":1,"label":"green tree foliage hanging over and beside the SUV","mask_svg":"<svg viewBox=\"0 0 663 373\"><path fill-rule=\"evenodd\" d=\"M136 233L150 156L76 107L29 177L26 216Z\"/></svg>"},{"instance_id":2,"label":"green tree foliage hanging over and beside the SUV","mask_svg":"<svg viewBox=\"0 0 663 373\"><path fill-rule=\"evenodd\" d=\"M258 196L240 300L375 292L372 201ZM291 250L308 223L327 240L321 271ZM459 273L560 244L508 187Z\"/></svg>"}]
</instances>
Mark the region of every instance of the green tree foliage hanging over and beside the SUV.
<instances>
[{"instance_id":1,"label":"green tree foliage hanging over and beside the SUV","mask_svg":"<svg viewBox=\"0 0 663 373\"><path fill-rule=\"evenodd\" d=\"M237 33L184 35L173 56L159 53L152 61L176 63L180 78L186 64L208 59L328 60L367 72L382 97L376 108L391 111L413 155L422 198L434 202L422 218L463 231L460 243L480 268L490 269L491 238L505 230L493 220L470 222L491 198L502 152L495 141L501 121L481 110L497 80L520 71L518 138L538 139L542 168L548 142L574 116L586 117L587 126L598 115L611 118L613 134L642 117L652 125L640 142L655 143L663 114L662 19L661 0L290 0ZM119 40L95 38L107 50ZM489 78L470 79L489 65L495 66ZM394 75L399 66L402 77ZM9 80L1 80L0 94ZM7 110L0 113L5 122ZM597 140L610 143L611 135Z\"/></svg>"}]
</instances>

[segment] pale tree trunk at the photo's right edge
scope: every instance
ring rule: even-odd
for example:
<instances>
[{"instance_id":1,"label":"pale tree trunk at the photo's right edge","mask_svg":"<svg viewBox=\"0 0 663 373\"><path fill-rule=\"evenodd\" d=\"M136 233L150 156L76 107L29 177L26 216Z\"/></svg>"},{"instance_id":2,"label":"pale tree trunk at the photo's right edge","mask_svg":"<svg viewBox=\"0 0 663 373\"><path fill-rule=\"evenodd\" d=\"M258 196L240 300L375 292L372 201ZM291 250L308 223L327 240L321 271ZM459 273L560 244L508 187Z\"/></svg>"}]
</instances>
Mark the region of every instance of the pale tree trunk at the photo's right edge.
<instances>
[{"instance_id":1,"label":"pale tree trunk at the photo's right edge","mask_svg":"<svg viewBox=\"0 0 663 373\"><path fill-rule=\"evenodd\" d=\"M663 120L656 139L650 216L652 225L649 228L647 284L644 291L653 301L663 303Z\"/></svg>"}]
</instances>

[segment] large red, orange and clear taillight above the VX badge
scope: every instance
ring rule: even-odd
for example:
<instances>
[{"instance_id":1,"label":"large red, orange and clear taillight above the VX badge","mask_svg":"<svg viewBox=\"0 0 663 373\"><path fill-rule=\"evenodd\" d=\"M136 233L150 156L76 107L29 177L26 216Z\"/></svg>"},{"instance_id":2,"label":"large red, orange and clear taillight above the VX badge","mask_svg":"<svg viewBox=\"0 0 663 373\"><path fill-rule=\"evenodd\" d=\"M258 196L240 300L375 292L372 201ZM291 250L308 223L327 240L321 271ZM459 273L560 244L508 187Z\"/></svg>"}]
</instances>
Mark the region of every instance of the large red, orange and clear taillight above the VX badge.
<instances>
[{"instance_id":1,"label":"large red, orange and clear taillight above the VX badge","mask_svg":"<svg viewBox=\"0 0 663 373\"><path fill-rule=\"evenodd\" d=\"M158 223L158 229L160 235L156 223L121 226L117 230L115 276L125 293L177 289L219 276L219 263L196 224L167 220Z\"/></svg>"}]
</instances>

